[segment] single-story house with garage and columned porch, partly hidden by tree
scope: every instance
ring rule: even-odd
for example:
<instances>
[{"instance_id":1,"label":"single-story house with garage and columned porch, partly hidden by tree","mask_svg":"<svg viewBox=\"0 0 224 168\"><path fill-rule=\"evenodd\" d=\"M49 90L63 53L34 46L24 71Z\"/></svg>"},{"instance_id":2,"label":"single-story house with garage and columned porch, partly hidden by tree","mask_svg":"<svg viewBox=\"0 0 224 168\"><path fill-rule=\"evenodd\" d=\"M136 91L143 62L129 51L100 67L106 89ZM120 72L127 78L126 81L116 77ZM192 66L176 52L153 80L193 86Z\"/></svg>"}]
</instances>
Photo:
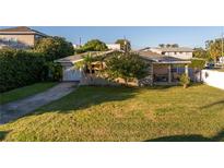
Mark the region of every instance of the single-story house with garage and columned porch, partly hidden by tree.
<instances>
[{"instance_id":1,"label":"single-story house with garage and columned porch, partly hidden by tree","mask_svg":"<svg viewBox=\"0 0 224 168\"><path fill-rule=\"evenodd\" d=\"M92 51L80 55L66 57L55 62L62 65L62 81L82 81L85 77L85 72L82 68L75 67L76 63L83 60L84 56L91 55L109 56L117 50L109 51ZM175 57L163 56L152 51L139 51L139 56L149 64L149 75L139 80L141 85L161 85L161 84L177 84L179 76L182 73L189 74L188 65L191 63L189 60L182 60ZM92 64L97 69L97 62Z\"/></svg>"}]
</instances>

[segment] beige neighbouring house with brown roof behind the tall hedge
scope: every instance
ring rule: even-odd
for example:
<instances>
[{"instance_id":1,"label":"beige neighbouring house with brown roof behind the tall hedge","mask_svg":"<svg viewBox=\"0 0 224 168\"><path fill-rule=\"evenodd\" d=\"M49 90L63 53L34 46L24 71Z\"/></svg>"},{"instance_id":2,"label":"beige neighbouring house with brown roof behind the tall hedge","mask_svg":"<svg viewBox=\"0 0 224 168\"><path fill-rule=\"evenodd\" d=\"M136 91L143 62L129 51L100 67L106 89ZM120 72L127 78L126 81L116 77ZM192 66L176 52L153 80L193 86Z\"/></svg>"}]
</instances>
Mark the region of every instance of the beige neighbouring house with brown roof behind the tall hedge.
<instances>
[{"instance_id":1,"label":"beige neighbouring house with brown roof behind the tall hedge","mask_svg":"<svg viewBox=\"0 0 224 168\"><path fill-rule=\"evenodd\" d=\"M35 41L43 37L47 37L47 35L25 26L3 28L0 29L0 48L33 47Z\"/></svg>"}]
</instances>

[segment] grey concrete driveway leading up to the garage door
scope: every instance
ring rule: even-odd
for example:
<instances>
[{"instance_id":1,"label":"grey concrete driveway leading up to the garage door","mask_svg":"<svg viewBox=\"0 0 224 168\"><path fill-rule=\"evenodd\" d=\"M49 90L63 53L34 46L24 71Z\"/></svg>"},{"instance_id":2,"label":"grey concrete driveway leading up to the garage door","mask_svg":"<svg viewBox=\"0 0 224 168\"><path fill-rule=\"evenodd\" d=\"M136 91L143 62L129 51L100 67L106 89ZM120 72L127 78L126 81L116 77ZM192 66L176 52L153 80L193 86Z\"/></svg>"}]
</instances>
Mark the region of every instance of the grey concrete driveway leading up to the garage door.
<instances>
[{"instance_id":1,"label":"grey concrete driveway leading up to the garage door","mask_svg":"<svg viewBox=\"0 0 224 168\"><path fill-rule=\"evenodd\" d=\"M22 116L31 113L35 109L57 100L75 89L78 83L67 82L60 83L44 93L26 97L21 100L9 103L0 106L0 124L8 123Z\"/></svg>"}]
</instances>

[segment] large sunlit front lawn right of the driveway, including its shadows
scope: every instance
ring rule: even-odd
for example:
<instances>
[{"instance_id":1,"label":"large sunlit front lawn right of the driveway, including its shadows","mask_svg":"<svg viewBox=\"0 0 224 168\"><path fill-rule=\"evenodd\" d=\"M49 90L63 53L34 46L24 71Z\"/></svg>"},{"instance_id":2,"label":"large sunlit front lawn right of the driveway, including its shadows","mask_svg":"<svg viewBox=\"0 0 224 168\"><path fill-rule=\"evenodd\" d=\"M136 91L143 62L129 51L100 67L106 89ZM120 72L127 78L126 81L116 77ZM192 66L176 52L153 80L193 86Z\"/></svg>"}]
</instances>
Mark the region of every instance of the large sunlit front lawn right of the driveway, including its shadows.
<instances>
[{"instance_id":1,"label":"large sunlit front lawn right of the driveway, including its shadows","mask_svg":"<svg viewBox=\"0 0 224 168\"><path fill-rule=\"evenodd\" d=\"M224 91L79 87L0 125L2 141L224 141Z\"/></svg>"}]
</instances>

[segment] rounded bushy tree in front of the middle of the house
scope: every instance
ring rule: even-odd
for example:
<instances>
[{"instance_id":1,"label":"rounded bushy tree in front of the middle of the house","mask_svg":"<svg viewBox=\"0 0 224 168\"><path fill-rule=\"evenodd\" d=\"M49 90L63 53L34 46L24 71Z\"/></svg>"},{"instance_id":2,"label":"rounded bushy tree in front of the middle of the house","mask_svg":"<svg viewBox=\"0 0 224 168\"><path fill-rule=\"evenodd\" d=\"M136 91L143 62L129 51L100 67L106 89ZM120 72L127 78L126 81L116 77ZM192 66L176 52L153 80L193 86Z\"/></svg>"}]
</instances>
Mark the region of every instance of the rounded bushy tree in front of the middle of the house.
<instances>
[{"instance_id":1,"label":"rounded bushy tree in front of the middle of the house","mask_svg":"<svg viewBox=\"0 0 224 168\"><path fill-rule=\"evenodd\" d=\"M126 84L133 79L144 77L146 63L133 53L117 53L106 61L106 73L110 80L121 77Z\"/></svg>"}]
</instances>

